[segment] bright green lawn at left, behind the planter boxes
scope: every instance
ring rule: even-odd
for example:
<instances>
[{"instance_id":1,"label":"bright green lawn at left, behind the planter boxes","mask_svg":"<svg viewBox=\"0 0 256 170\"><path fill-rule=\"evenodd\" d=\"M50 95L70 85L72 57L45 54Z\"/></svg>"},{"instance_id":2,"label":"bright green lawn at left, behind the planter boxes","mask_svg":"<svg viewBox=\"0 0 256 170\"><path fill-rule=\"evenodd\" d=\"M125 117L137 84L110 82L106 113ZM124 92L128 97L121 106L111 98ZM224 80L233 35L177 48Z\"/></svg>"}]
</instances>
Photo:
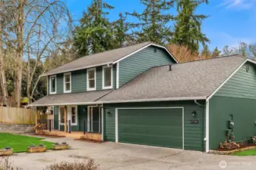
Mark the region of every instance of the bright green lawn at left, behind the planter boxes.
<instances>
[{"instance_id":1,"label":"bright green lawn at left, behind the planter boxes","mask_svg":"<svg viewBox=\"0 0 256 170\"><path fill-rule=\"evenodd\" d=\"M52 149L52 144L54 143L41 141L42 139L43 138L29 137L20 134L0 133L0 149L11 147L14 153L21 153L26 152L30 144L43 144L46 145L47 149Z\"/></svg>"}]
</instances>

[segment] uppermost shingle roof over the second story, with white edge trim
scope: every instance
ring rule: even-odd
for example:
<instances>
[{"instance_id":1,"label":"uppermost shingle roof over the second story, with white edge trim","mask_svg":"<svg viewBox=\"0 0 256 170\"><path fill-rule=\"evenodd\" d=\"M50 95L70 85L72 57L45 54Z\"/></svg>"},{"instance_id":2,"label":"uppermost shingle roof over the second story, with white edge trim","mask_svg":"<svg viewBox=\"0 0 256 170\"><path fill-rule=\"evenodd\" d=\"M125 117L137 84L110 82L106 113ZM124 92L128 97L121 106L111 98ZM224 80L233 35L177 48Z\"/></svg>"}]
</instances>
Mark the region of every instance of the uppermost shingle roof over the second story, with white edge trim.
<instances>
[{"instance_id":1,"label":"uppermost shingle roof over the second story, with white edge trim","mask_svg":"<svg viewBox=\"0 0 256 170\"><path fill-rule=\"evenodd\" d=\"M129 54L132 54L136 51L140 51L141 49L146 48L147 46L150 46L150 45L164 48L160 45L155 45L152 42L144 42L141 44L131 45L124 48L118 48L111 51L91 54L85 57L81 57L77 60L74 60L71 63L66 63L63 66L58 66L56 69L50 70L48 73L45 73L43 76L52 75L56 73L65 73L65 72L74 71L74 70L81 70L81 69L86 69L93 66L102 66L106 64L111 64L119 59L122 59L122 57L126 57ZM168 51L166 48L164 49ZM173 56L172 58L173 60L175 60Z\"/></svg>"}]
</instances>

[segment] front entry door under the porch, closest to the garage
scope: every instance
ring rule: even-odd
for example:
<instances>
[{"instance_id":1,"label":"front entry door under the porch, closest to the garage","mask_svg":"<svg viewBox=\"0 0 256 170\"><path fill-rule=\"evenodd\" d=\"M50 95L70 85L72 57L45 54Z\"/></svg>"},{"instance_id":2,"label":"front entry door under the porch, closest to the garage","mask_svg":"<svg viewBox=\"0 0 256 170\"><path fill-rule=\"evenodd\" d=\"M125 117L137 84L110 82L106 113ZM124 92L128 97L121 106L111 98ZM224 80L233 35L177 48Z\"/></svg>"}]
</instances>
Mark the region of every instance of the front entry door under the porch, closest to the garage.
<instances>
[{"instance_id":1,"label":"front entry door under the porch, closest to the garage","mask_svg":"<svg viewBox=\"0 0 256 170\"><path fill-rule=\"evenodd\" d=\"M88 112L88 131L100 132L100 107L89 107Z\"/></svg>"}]
</instances>

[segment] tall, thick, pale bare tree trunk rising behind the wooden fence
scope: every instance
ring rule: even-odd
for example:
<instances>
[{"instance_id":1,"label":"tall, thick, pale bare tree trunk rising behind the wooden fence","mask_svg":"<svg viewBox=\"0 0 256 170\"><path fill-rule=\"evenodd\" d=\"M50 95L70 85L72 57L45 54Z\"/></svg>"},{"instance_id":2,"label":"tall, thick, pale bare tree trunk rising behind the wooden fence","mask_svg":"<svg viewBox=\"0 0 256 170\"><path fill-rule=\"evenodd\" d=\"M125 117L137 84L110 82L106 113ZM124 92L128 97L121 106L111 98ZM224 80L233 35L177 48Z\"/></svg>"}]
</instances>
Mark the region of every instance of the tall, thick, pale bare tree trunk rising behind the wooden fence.
<instances>
[{"instance_id":1,"label":"tall, thick, pale bare tree trunk rising behind the wooden fence","mask_svg":"<svg viewBox=\"0 0 256 170\"><path fill-rule=\"evenodd\" d=\"M17 56L15 69L15 103L16 107L21 107L21 77L22 77L22 56L23 56L23 36L24 36L24 5L25 0L18 1L17 14Z\"/></svg>"}]
</instances>

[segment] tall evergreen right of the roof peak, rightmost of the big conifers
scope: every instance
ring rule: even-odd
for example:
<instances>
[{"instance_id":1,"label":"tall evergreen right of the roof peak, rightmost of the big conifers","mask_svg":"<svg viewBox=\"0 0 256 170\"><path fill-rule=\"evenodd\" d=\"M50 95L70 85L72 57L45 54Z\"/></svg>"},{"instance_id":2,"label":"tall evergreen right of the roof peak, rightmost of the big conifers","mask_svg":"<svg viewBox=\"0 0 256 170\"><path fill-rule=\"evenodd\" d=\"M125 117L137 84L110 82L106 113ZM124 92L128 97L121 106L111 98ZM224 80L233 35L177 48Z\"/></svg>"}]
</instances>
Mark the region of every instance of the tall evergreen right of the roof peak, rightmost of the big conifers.
<instances>
[{"instance_id":1,"label":"tall evergreen right of the roof peak, rightmost of the big conifers","mask_svg":"<svg viewBox=\"0 0 256 170\"><path fill-rule=\"evenodd\" d=\"M202 14L194 14L201 3L198 0L176 0L178 16L175 17L175 32L172 42L186 45L192 52L198 52L200 45L206 46L207 36L201 32L201 23L207 18Z\"/></svg>"}]
</instances>

